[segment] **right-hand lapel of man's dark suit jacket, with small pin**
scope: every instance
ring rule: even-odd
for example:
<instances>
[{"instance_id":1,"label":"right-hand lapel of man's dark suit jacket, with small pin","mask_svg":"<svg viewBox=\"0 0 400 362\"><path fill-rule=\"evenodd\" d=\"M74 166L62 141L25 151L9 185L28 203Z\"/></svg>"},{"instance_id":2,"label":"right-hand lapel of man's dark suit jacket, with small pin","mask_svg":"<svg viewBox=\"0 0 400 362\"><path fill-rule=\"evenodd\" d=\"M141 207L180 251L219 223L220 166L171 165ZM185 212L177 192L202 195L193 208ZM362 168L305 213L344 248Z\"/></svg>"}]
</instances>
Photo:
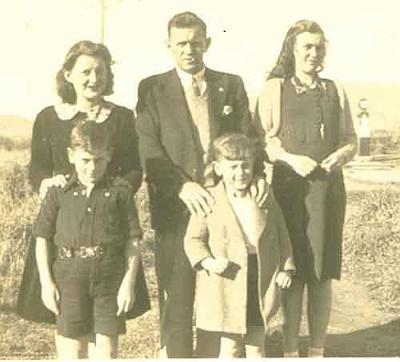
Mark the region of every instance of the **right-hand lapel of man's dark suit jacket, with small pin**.
<instances>
[{"instance_id":1,"label":"right-hand lapel of man's dark suit jacket, with small pin","mask_svg":"<svg viewBox=\"0 0 400 362\"><path fill-rule=\"evenodd\" d=\"M208 110L210 116L210 137L214 140L220 134L218 121L222 115L223 105L228 90L228 77L206 68L205 78L208 87Z\"/></svg>"}]
</instances>

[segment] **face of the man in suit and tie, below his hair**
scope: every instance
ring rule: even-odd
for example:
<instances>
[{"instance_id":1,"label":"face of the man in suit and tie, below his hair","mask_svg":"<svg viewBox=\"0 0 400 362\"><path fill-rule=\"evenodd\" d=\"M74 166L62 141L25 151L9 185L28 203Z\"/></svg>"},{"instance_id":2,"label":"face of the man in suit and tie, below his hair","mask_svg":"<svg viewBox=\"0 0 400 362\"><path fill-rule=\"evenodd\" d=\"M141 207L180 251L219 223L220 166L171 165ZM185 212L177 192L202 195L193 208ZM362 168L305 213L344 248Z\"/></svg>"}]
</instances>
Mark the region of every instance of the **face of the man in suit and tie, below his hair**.
<instances>
[{"instance_id":1,"label":"face of the man in suit and tie, below his hair","mask_svg":"<svg viewBox=\"0 0 400 362\"><path fill-rule=\"evenodd\" d=\"M203 56L210 45L199 26L192 28L172 27L168 39L168 48L174 56L176 65L184 72L196 74L204 67Z\"/></svg>"}]
</instances>

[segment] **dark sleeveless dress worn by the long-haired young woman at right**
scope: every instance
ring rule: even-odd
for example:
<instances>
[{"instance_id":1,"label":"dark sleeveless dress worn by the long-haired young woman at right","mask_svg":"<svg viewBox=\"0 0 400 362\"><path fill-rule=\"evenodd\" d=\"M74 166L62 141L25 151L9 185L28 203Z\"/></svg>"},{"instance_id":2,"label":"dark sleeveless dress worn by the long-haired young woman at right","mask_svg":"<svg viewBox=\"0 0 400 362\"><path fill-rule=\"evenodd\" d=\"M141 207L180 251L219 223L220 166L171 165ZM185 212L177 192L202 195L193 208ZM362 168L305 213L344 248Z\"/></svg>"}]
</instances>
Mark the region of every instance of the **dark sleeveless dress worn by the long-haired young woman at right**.
<instances>
[{"instance_id":1,"label":"dark sleeveless dress worn by the long-haired young woman at right","mask_svg":"<svg viewBox=\"0 0 400 362\"><path fill-rule=\"evenodd\" d=\"M339 96L323 80L298 93L290 79L282 84L282 124L278 138L289 153L320 163L339 145ZM341 170L317 167L307 177L283 163L274 165L272 186L293 244L296 277L303 281L339 279L345 189Z\"/></svg>"}]
</instances>

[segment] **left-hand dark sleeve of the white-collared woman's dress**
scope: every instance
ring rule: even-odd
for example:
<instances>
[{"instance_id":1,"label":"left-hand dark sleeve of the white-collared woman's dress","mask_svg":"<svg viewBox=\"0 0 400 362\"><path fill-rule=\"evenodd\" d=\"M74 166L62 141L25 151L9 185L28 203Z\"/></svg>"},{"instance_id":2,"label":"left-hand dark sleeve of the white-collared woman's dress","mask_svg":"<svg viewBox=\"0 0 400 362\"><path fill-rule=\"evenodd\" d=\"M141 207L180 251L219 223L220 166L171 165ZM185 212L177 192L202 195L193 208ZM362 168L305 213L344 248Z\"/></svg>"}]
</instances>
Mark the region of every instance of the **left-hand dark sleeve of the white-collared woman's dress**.
<instances>
[{"instance_id":1,"label":"left-hand dark sleeve of the white-collared woman's dress","mask_svg":"<svg viewBox=\"0 0 400 362\"><path fill-rule=\"evenodd\" d=\"M33 124L29 182L34 191L38 191L43 179L52 177L54 165L48 138L50 118L45 111L38 114Z\"/></svg>"}]
</instances>

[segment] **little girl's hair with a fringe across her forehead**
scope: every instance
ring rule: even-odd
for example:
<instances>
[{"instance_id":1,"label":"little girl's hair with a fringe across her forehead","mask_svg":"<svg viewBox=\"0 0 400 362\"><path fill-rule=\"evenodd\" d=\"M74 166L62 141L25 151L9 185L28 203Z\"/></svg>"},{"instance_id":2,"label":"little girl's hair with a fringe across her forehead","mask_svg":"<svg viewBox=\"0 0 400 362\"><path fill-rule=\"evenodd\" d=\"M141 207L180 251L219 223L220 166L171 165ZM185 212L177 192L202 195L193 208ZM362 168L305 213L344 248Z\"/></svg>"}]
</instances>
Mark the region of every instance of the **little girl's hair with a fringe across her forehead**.
<instances>
[{"instance_id":1,"label":"little girl's hair with a fringe across her forehead","mask_svg":"<svg viewBox=\"0 0 400 362\"><path fill-rule=\"evenodd\" d=\"M214 171L214 162L225 160L245 160L247 158L256 161L258 152L254 140L241 133L226 133L214 140L211 146L209 159L204 172L206 186L213 186L221 179Z\"/></svg>"}]
</instances>

